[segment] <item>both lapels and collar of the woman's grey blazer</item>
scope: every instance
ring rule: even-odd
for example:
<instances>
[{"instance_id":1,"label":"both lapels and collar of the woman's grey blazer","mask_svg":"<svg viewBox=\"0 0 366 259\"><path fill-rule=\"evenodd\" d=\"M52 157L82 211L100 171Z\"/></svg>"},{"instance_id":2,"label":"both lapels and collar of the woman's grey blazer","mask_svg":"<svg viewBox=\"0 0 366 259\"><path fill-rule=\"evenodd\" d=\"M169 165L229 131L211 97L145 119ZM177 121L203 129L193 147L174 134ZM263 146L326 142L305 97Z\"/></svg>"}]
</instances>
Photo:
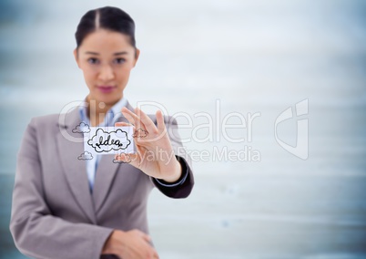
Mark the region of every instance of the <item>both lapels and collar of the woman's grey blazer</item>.
<instances>
[{"instance_id":1,"label":"both lapels and collar of the woman's grey blazer","mask_svg":"<svg viewBox=\"0 0 366 259\"><path fill-rule=\"evenodd\" d=\"M128 102L126 107L133 110ZM128 122L123 116L118 117L117 121ZM96 214L107 199L107 193L109 193L120 163L113 162L114 155L102 155L98 163L93 193L91 194L86 175L86 161L78 160L78 157L84 152L84 135L83 133L73 132L73 129L76 129L80 122L77 107L66 114L60 114L56 143L59 159L66 174L66 181L76 202L85 212L90 222L97 223Z\"/></svg>"}]
</instances>

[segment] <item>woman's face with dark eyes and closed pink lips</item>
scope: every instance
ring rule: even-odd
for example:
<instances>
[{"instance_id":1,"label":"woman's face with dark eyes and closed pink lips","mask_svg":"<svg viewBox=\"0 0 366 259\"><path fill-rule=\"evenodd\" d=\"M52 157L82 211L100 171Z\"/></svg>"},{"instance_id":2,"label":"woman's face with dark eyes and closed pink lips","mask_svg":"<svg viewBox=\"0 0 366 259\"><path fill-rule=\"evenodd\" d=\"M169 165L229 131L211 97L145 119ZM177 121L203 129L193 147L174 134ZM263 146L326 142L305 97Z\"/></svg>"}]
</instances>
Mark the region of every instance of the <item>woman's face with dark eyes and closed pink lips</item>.
<instances>
[{"instance_id":1,"label":"woman's face with dark eyes and closed pink lips","mask_svg":"<svg viewBox=\"0 0 366 259\"><path fill-rule=\"evenodd\" d=\"M83 70L89 88L88 100L111 106L122 98L139 54L128 40L124 34L98 29L74 50L77 66Z\"/></svg>"}]
</instances>

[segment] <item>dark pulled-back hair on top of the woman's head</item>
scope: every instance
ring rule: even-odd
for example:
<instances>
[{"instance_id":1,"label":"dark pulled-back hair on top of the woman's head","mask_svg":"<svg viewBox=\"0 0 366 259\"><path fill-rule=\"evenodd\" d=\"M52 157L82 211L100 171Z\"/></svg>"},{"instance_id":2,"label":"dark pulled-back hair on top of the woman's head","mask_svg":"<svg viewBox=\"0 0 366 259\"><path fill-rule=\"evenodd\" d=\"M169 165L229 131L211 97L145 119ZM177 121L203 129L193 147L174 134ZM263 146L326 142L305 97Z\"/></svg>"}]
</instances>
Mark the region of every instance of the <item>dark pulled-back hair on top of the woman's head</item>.
<instances>
[{"instance_id":1,"label":"dark pulled-back hair on top of the woman's head","mask_svg":"<svg viewBox=\"0 0 366 259\"><path fill-rule=\"evenodd\" d=\"M136 48L134 20L125 11L112 6L90 10L81 17L75 33L76 48L80 47L88 34L98 28L129 36L131 46Z\"/></svg>"}]
</instances>

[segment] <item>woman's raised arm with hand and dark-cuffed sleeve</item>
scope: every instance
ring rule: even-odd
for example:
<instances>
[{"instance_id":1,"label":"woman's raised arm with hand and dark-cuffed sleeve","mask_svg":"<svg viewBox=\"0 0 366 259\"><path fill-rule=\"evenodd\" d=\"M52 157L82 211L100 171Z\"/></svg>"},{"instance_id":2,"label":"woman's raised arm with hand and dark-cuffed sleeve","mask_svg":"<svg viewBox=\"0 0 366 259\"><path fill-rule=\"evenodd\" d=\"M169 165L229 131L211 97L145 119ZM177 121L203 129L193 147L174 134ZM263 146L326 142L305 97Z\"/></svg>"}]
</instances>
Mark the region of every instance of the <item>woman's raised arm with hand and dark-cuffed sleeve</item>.
<instances>
[{"instance_id":1,"label":"woman's raised arm with hand and dark-cuffed sleeve","mask_svg":"<svg viewBox=\"0 0 366 259\"><path fill-rule=\"evenodd\" d=\"M134 125L136 154L121 154L117 160L129 162L145 172L154 185L171 198L186 198L194 185L190 158L183 148L176 119L157 112L154 122L142 110L122 109L124 116ZM117 122L116 126L127 126ZM141 134L143 132L143 134Z\"/></svg>"}]
</instances>

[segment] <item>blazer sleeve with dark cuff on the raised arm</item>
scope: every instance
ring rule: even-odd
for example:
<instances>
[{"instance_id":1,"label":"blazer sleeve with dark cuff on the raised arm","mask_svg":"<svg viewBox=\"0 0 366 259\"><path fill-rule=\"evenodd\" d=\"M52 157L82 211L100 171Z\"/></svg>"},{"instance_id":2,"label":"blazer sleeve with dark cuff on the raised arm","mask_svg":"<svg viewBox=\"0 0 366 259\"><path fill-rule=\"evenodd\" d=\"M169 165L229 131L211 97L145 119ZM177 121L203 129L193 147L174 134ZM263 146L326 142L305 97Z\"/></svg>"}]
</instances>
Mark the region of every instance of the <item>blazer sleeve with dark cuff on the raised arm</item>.
<instances>
[{"instance_id":1,"label":"blazer sleeve with dark cuff on the raised arm","mask_svg":"<svg viewBox=\"0 0 366 259\"><path fill-rule=\"evenodd\" d=\"M182 175L178 181L176 181L177 183L168 183L162 180L157 181L157 179L153 177L150 178L155 187L157 187L160 192L163 192L168 197L187 198L190 192L192 192L194 185L192 162L180 140L177 119L166 117L165 123L167 125L167 131L175 153L175 157L182 167ZM163 184L161 184L161 182Z\"/></svg>"}]
</instances>

